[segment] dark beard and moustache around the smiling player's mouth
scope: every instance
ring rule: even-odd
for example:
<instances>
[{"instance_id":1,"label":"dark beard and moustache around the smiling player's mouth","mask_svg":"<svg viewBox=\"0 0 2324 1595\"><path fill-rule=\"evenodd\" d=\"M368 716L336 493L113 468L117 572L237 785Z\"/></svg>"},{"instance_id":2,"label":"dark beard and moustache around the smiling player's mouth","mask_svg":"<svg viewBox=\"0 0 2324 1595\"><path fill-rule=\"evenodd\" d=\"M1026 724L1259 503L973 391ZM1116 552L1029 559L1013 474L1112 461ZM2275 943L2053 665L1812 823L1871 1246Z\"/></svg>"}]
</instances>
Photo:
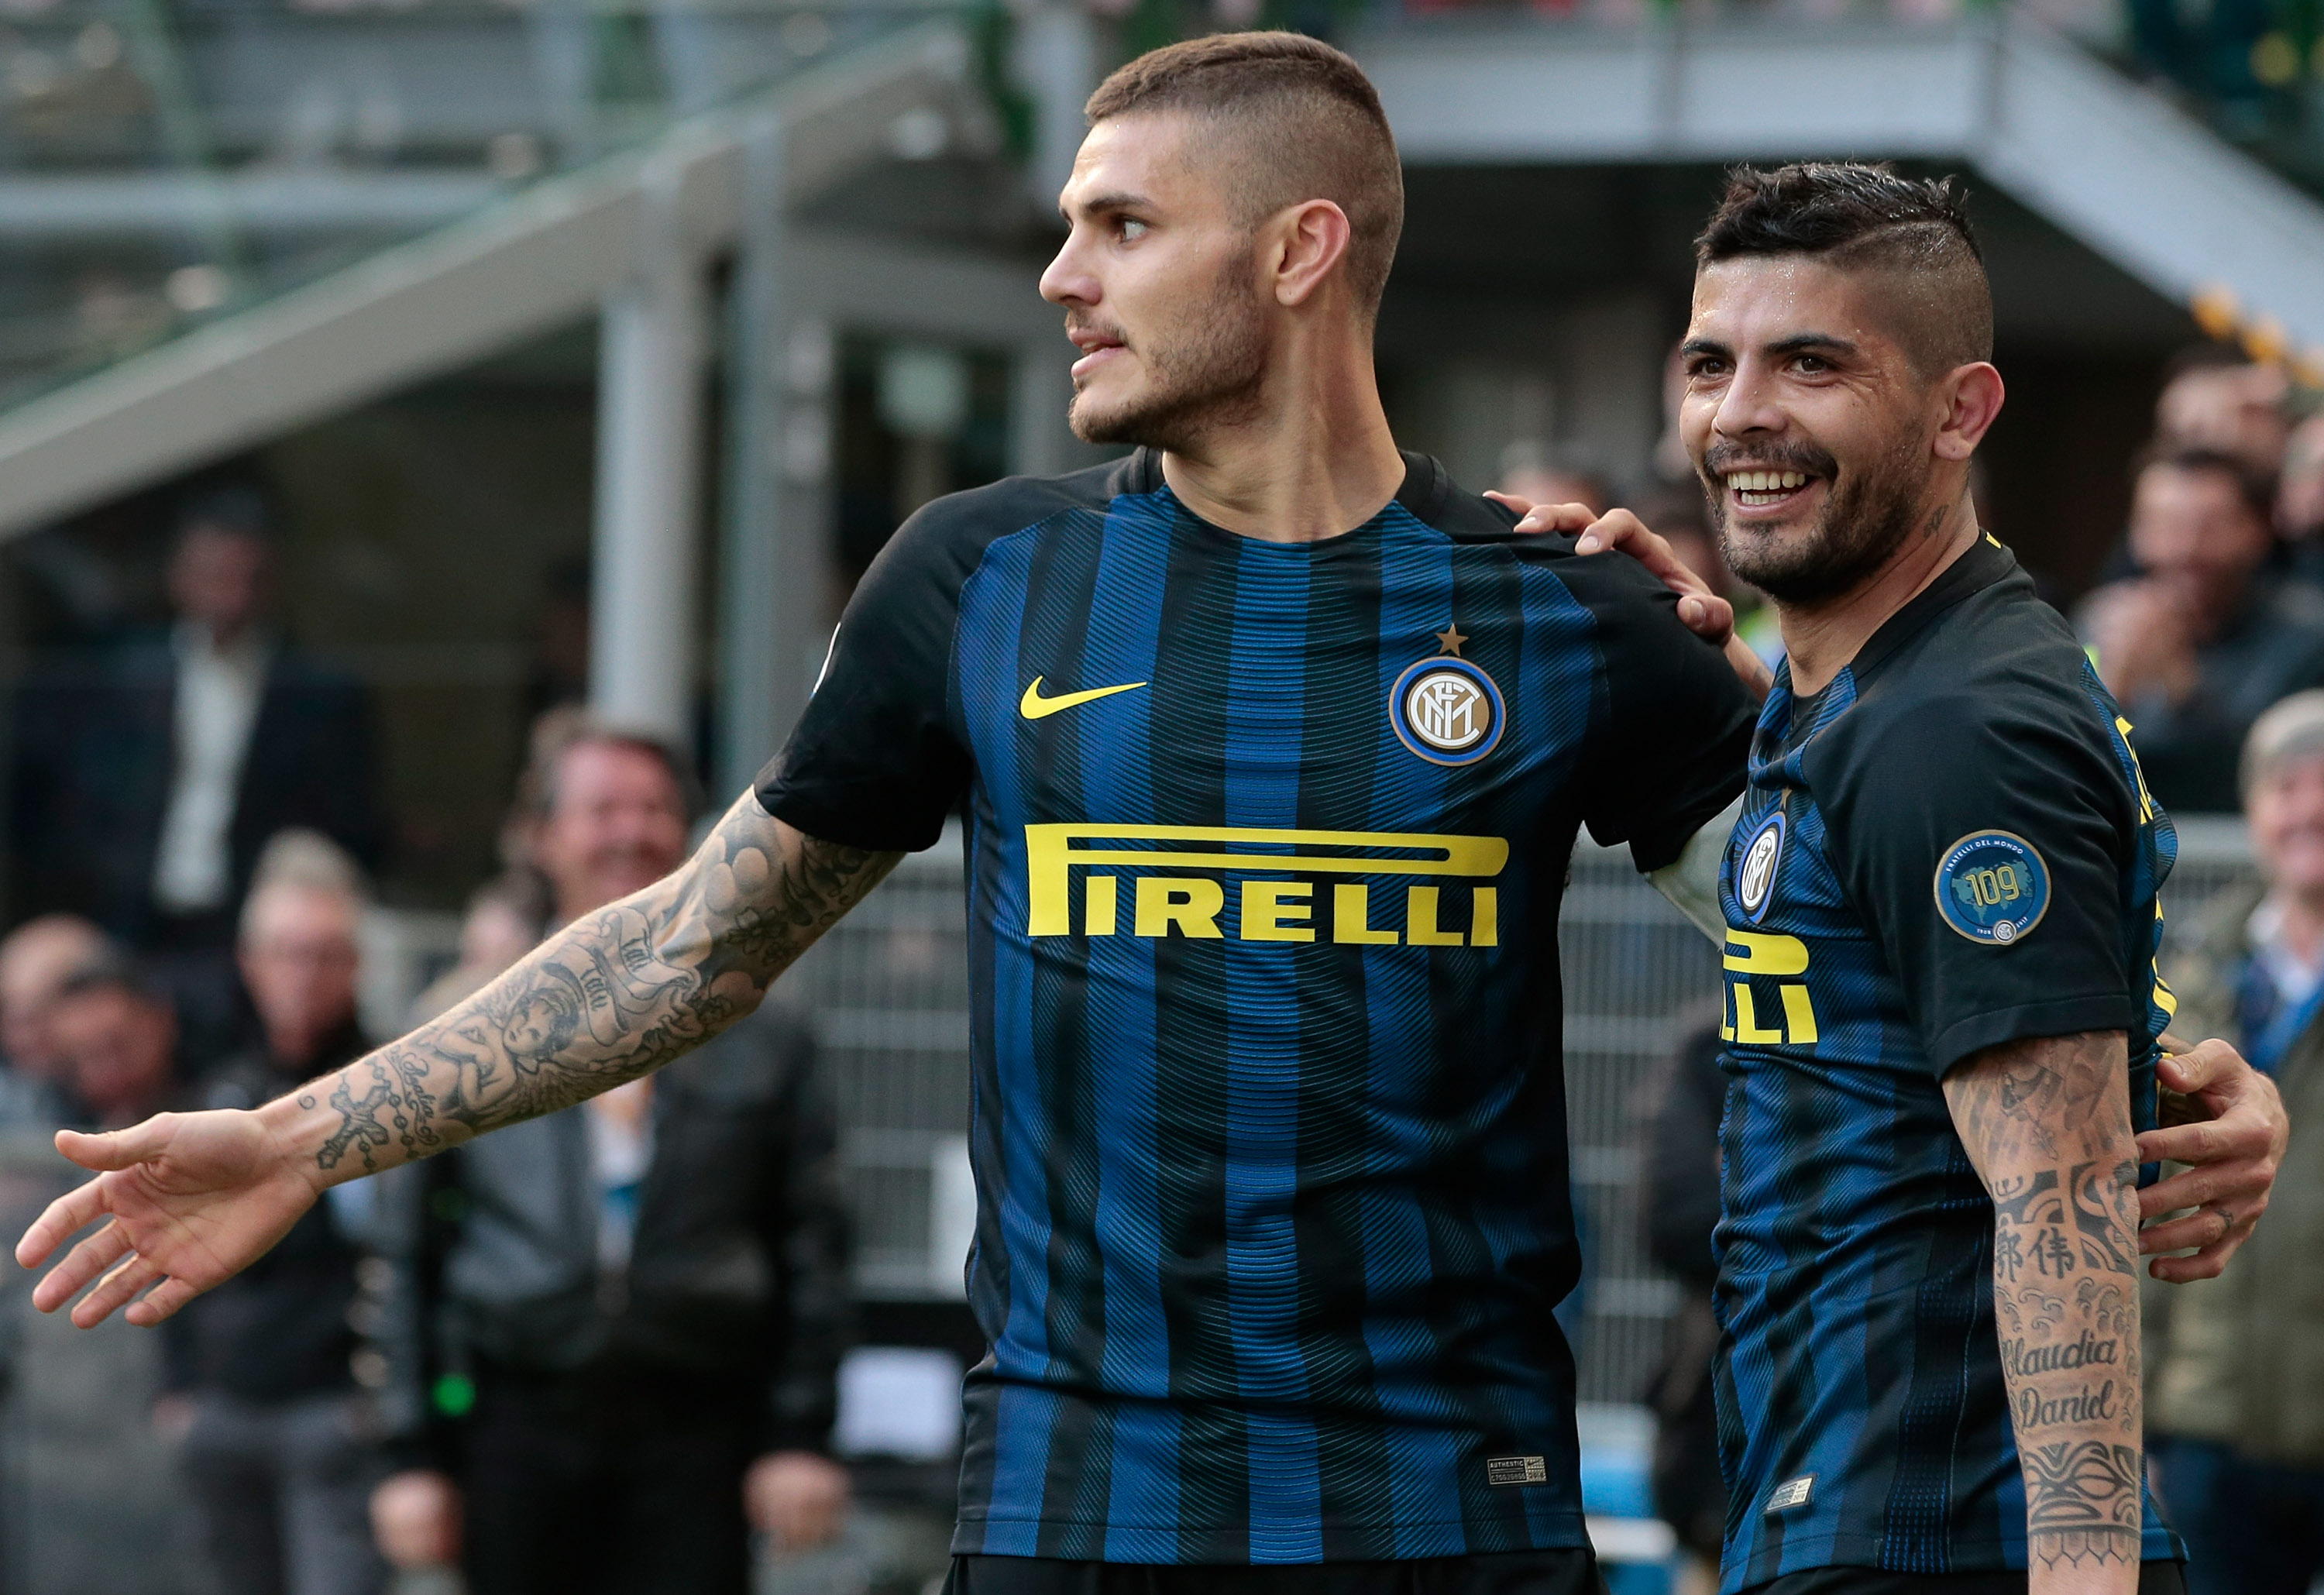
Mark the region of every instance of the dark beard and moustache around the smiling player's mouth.
<instances>
[{"instance_id":1,"label":"dark beard and moustache around the smiling player's mouth","mask_svg":"<svg viewBox=\"0 0 2324 1595\"><path fill-rule=\"evenodd\" d=\"M1734 451L1741 456L1743 451ZM1852 472L1845 486L1824 498L1824 509L1806 535L1748 532L1729 521L1727 486L1720 481L1720 451L1706 456L1699 474L1710 500L1710 523L1720 535L1720 553L1743 581L1778 605L1806 609L1843 598L1894 558L1927 498L1929 472L1913 470L1920 439L1901 439L1878 465ZM1752 449L1752 463L1810 470L1834 481L1834 460L1820 449ZM1934 528L1931 528L1934 530Z\"/></svg>"}]
</instances>

